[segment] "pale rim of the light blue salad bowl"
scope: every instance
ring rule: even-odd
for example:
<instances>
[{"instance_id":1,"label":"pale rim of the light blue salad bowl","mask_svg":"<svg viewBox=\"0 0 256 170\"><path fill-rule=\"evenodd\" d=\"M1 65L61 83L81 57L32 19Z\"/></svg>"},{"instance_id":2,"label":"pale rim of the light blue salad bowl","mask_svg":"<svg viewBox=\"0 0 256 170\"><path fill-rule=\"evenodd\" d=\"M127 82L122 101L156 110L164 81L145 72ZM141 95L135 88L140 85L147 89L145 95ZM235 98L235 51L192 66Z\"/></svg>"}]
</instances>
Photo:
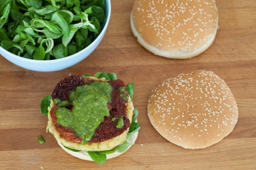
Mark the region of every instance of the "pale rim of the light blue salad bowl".
<instances>
[{"instance_id":1,"label":"pale rim of the light blue salad bowl","mask_svg":"<svg viewBox=\"0 0 256 170\"><path fill-rule=\"evenodd\" d=\"M88 45L86 48L84 48L83 50L80 50L80 52L74 53L73 55L64 57L62 59L55 59L55 60L26 59L22 56L14 55L13 53L9 52L8 50L3 49L2 46L0 46L0 52L2 51L2 52L5 52L5 53L8 53L8 55L13 57L14 59L24 61L24 62L34 63L34 64L41 63L41 62L43 62L44 64L47 64L47 63L52 64L52 63L65 62L66 60L70 60L70 59L76 57L77 55L80 55L81 53L83 53L83 51L90 48L90 46L94 46L94 44L97 43L96 40L99 39L100 37L102 37L105 34L105 31L106 31L106 28L108 27L108 23L109 23L110 16L111 16L111 0L104 0L104 1L105 1L105 15L108 14L107 17L105 18L105 20L103 21L105 23L105 25L104 25L103 29L101 30L101 33L99 33L99 35L94 39L94 41L90 45ZM108 5L106 5L106 4L108 4ZM2 53L0 53L0 55L3 56ZM8 60L7 57L5 57L5 56L3 56L3 57ZM21 67L21 66L19 66L19 67ZM65 68L63 68L63 69L65 69Z\"/></svg>"}]
</instances>

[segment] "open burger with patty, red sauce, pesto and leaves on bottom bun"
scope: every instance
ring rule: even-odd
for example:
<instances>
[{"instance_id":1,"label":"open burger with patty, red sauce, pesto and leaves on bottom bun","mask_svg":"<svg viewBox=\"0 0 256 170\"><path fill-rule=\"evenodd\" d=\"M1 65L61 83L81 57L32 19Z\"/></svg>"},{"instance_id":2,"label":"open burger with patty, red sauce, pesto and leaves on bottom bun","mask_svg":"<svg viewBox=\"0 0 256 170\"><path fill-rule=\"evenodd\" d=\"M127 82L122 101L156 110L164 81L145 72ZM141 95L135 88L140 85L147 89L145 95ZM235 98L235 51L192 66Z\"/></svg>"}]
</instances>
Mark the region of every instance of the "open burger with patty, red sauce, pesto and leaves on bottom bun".
<instances>
[{"instance_id":1,"label":"open burger with patty, red sauce, pesto and leaves on bottom bun","mask_svg":"<svg viewBox=\"0 0 256 170\"><path fill-rule=\"evenodd\" d=\"M47 130L67 153L103 164L137 139L133 88L113 73L70 75L42 100L42 113L48 107Z\"/></svg>"}]
</instances>

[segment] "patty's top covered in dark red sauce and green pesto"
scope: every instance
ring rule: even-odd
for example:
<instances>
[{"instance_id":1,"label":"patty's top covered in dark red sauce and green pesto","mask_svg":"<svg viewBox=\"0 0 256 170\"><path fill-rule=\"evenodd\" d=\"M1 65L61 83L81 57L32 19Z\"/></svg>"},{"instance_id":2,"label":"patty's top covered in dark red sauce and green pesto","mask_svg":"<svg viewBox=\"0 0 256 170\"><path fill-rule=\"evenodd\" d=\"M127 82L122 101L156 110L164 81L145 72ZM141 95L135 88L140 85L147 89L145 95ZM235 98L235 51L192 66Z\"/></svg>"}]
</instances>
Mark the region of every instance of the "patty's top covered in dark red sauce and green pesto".
<instances>
[{"instance_id":1,"label":"patty's top covered in dark red sauce and green pesto","mask_svg":"<svg viewBox=\"0 0 256 170\"><path fill-rule=\"evenodd\" d=\"M98 100L101 95L105 100ZM55 129L64 139L76 143L102 142L119 136L130 126L126 116L125 99L128 96L125 83L120 79L94 81L74 75L65 78L56 85L52 93L55 106L50 113ZM66 104L61 104L63 102ZM107 109L108 112L102 109Z\"/></svg>"}]
</instances>

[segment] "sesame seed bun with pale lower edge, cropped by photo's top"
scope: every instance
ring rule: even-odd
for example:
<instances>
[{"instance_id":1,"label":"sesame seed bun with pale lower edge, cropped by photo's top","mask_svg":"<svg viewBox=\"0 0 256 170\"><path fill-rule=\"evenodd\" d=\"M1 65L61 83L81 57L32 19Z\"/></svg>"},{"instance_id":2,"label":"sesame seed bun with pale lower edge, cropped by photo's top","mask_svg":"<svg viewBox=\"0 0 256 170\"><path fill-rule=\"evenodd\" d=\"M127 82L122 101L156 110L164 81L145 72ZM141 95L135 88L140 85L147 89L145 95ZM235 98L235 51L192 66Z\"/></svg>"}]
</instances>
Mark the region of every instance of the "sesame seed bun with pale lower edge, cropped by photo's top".
<instances>
[{"instance_id":1,"label":"sesame seed bun with pale lower edge, cropped by photo's top","mask_svg":"<svg viewBox=\"0 0 256 170\"><path fill-rule=\"evenodd\" d=\"M150 52L187 59L214 42L218 9L215 0L136 0L130 24L138 42Z\"/></svg>"}]
</instances>

